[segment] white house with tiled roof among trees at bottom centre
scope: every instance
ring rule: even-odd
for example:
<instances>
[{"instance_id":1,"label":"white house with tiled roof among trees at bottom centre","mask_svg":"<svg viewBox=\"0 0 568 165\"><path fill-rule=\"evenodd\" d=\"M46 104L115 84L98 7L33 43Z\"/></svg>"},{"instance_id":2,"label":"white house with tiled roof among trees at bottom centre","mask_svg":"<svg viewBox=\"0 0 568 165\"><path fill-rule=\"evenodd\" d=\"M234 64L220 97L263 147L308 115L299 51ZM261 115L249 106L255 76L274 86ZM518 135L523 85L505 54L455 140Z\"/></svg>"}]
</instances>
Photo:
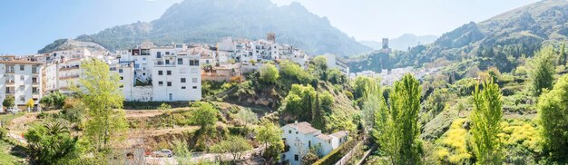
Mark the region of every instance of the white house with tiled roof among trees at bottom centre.
<instances>
[{"instance_id":1,"label":"white house with tiled roof among trees at bottom centre","mask_svg":"<svg viewBox=\"0 0 568 165\"><path fill-rule=\"evenodd\" d=\"M281 127L280 130L284 144L289 147L289 150L282 153L282 160L289 161L292 165L299 165L310 148L317 149L318 156L323 157L348 141L348 131L327 135L313 128L308 122L296 121Z\"/></svg>"}]
</instances>

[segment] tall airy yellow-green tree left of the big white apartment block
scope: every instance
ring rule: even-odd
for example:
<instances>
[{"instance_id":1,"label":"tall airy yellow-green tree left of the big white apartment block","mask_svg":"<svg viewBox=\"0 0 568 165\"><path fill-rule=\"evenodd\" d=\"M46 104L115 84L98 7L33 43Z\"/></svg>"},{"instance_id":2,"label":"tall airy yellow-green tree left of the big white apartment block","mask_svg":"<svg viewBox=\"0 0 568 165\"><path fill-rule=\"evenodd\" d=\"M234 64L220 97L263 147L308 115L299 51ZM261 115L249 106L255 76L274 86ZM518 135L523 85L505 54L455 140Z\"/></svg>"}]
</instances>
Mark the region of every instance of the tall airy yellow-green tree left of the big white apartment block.
<instances>
[{"instance_id":1,"label":"tall airy yellow-green tree left of the big white apartment block","mask_svg":"<svg viewBox=\"0 0 568 165\"><path fill-rule=\"evenodd\" d=\"M79 86L73 91L88 109L84 133L96 150L103 150L113 135L127 128L124 112L115 110L121 109L124 101L120 79L117 73L110 72L108 64L96 59L84 61L81 73Z\"/></svg>"}]
</instances>

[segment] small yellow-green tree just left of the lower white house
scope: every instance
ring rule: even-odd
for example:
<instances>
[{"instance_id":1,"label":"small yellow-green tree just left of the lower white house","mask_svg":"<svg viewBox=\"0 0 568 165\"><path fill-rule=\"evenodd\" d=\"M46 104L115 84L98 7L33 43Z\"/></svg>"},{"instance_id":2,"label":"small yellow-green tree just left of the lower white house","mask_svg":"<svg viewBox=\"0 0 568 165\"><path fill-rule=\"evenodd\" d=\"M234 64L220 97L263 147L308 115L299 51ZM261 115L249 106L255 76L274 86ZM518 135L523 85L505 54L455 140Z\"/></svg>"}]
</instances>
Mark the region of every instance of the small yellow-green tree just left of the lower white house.
<instances>
[{"instance_id":1,"label":"small yellow-green tree just left of the lower white house","mask_svg":"<svg viewBox=\"0 0 568 165\"><path fill-rule=\"evenodd\" d=\"M280 128L273 122L262 121L260 128L257 129L257 139L265 147L263 157L269 162L278 162L280 153L284 151Z\"/></svg>"}]
</instances>

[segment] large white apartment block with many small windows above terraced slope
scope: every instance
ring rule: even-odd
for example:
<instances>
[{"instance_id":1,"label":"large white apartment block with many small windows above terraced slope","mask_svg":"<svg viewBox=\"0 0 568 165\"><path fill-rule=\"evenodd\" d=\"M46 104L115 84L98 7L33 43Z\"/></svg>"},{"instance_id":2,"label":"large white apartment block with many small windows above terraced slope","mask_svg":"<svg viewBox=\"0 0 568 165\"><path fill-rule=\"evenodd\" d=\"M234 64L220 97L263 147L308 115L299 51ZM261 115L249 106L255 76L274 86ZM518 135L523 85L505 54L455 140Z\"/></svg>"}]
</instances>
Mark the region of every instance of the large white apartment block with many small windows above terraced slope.
<instances>
[{"instance_id":1,"label":"large white apartment block with many small windows above terraced slope","mask_svg":"<svg viewBox=\"0 0 568 165\"><path fill-rule=\"evenodd\" d=\"M201 54L188 44L144 47L120 52L111 64L119 73L127 101L201 100Z\"/></svg>"}]
</instances>

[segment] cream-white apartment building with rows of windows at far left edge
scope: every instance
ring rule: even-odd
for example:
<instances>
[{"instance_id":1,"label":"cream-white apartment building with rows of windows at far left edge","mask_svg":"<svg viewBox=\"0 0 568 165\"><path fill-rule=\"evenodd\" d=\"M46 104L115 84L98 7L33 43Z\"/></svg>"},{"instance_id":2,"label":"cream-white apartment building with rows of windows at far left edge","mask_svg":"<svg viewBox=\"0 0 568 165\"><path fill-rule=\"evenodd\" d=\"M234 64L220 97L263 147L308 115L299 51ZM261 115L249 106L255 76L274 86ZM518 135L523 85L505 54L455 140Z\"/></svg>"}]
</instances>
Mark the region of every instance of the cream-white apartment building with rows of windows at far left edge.
<instances>
[{"instance_id":1,"label":"cream-white apartment building with rows of windows at far left edge","mask_svg":"<svg viewBox=\"0 0 568 165\"><path fill-rule=\"evenodd\" d=\"M25 103L34 100L34 109L42 97L42 63L24 60L0 61L0 102L8 95L15 97L15 105L25 109ZM0 104L0 108L4 108Z\"/></svg>"}]
</instances>

